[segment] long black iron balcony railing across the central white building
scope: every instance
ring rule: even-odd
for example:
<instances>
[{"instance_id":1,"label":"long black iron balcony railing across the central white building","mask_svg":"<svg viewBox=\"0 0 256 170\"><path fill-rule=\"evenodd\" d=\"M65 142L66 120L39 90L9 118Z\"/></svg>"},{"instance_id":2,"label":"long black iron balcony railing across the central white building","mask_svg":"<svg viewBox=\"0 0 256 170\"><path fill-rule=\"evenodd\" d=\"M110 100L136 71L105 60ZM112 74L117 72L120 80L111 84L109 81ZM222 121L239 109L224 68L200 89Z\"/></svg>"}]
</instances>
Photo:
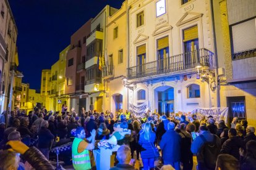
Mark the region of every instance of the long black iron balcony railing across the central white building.
<instances>
[{"instance_id":1,"label":"long black iron balcony railing across the central white building","mask_svg":"<svg viewBox=\"0 0 256 170\"><path fill-rule=\"evenodd\" d=\"M199 49L197 51L165 57L161 60L127 68L127 78L134 79L163 73L173 73L175 71L194 68L196 63L210 67L212 65L213 55L213 52L207 49Z\"/></svg>"}]
</instances>

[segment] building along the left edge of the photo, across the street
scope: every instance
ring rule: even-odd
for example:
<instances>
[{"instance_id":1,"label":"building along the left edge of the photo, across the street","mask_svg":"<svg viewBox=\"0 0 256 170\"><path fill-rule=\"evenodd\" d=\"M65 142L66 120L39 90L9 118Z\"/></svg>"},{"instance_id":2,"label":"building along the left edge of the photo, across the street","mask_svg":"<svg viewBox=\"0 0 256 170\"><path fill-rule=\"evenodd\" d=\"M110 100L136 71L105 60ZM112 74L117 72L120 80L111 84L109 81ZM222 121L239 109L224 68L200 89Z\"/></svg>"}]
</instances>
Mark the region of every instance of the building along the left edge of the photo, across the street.
<instances>
[{"instance_id":1,"label":"building along the left edge of the photo, across the street","mask_svg":"<svg viewBox=\"0 0 256 170\"><path fill-rule=\"evenodd\" d=\"M11 84L10 69L13 68L11 67L11 62L14 63L15 61L17 26L9 2L1 0L0 4L0 107L2 113L7 108L7 97L9 97L8 87ZM14 73L17 73L16 71Z\"/></svg>"}]
</instances>

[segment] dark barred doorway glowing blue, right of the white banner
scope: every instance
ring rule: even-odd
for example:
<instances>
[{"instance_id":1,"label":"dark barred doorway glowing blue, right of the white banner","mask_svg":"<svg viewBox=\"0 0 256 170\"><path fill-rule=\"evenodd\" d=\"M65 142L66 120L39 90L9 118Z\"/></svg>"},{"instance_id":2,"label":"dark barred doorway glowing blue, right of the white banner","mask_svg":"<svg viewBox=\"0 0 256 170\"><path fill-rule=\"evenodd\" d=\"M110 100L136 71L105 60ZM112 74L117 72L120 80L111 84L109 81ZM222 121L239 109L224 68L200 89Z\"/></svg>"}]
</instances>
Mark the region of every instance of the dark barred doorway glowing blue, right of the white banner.
<instances>
[{"instance_id":1,"label":"dark barred doorway glowing blue, right of the white banner","mask_svg":"<svg viewBox=\"0 0 256 170\"><path fill-rule=\"evenodd\" d=\"M246 119L245 97L228 97L229 124L234 117L239 120Z\"/></svg>"}]
</instances>

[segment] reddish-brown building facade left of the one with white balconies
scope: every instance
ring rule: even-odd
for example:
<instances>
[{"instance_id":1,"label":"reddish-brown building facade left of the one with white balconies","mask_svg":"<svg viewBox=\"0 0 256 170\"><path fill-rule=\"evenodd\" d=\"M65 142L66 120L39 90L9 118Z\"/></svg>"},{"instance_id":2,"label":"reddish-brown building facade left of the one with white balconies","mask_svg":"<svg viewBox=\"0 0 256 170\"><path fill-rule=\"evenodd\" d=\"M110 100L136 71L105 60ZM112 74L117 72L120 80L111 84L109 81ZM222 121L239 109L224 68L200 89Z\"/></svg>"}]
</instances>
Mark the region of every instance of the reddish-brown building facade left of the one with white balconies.
<instances>
[{"instance_id":1,"label":"reddish-brown building facade left of the one with white balconies","mask_svg":"<svg viewBox=\"0 0 256 170\"><path fill-rule=\"evenodd\" d=\"M91 31L91 20L88 20L71 36L70 50L67 53L66 64L66 94L68 110L74 108L79 112L85 107L85 56L87 54L87 36Z\"/></svg>"}]
</instances>

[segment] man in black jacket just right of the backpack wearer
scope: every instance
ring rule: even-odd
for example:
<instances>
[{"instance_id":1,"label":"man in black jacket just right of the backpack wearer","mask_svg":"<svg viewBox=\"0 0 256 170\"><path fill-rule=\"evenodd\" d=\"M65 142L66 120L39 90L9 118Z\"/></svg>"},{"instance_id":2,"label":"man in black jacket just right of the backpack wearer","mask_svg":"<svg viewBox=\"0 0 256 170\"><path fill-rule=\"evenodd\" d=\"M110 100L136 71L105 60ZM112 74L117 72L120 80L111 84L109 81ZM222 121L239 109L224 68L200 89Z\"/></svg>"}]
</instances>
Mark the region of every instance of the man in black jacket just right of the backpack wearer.
<instances>
[{"instance_id":1,"label":"man in black jacket just right of the backpack wearer","mask_svg":"<svg viewBox=\"0 0 256 170\"><path fill-rule=\"evenodd\" d=\"M228 153L239 160L239 148L244 144L241 137L236 136L236 129L231 128L228 131L229 139L224 142L221 148L221 153Z\"/></svg>"}]
</instances>

